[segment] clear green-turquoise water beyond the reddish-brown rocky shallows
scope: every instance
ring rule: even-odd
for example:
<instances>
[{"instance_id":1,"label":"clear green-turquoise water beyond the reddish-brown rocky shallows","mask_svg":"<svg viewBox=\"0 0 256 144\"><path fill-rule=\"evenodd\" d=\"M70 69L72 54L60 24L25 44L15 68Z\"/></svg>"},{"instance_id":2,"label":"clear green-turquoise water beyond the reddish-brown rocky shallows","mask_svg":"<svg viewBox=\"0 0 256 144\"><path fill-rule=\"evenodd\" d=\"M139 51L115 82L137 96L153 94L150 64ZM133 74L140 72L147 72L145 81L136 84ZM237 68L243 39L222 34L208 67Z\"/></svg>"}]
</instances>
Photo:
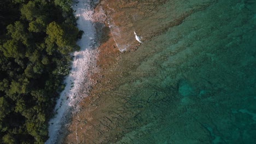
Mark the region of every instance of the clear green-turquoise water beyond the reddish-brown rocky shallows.
<instances>
[{"instance_id":1,"label":"clear green-turquoise water beyond the reddish-brown rocky shallows","mask_svg":"<svg viewBox=\"0 0 256 144\"><path fill-rule=\"evenodd\" d=\"M255 9L216 1L125 53L115 142L255 143Z\"/></svg>"}]
</instances>

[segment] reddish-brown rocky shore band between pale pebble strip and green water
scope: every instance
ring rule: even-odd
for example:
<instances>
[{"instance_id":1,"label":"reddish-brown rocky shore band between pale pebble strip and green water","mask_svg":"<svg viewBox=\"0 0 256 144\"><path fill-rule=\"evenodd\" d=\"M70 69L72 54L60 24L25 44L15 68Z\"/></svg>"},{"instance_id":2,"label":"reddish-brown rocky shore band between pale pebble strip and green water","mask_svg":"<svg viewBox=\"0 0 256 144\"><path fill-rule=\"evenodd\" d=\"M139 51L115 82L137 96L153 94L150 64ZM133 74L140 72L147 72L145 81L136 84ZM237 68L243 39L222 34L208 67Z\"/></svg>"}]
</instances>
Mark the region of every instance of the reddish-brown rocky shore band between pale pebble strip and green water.
<instances>
[{"instance_id":1,"label":"reddish-brown rocky shore band between pale pebble strip and green water","mask_svg":"<svg viewBox=\"0 0 256 144\"><path fill-rule=\"evenodd\" d=\"M122 103L124 103L125 99L121 97L111 98L109 92L118 88L124 82L132 81L131 77L127 77L130 75L128 71L138 67L138 62L127 63L123 59L123 55L132 55L133 51L136 51L138 46L141 45L136 41L133 31L142 36L142 41L148 41L165 32L168 27L178 25L185 17L195 12L196 9L206 8L212 2L207 1L200 8L195 7L194 11L186 9L183 12L184 15L175 15L173 20L166 19L166 11L162 9L164 4L169 4L166 1L120 1L120 3L117 3L112 0L103 0L98 3L93 21L96 25L97 22L104 23L104 26L100 25L100 29L104 29L104 31L101 31L103 32L104 40L98 47L96 67L99 71L91 76L91 80L94 81L95 85L91 87L89 97L86 97L79 104L79 112L73 115L65 143L115 142L124 133L129 132L130 129L115 131L115 129L118 129L119 122L114 122L106 117L104 109L107 109L110 105L123 107ZM131 15L135 17L130 17ZM158 19L162 17L162 21L154 21L156 17ZM148 24L149 26L145 27ZM125 35L119 37L120 33L125 33ZM129 47L119 47L120 45L129 45ZM146 75L143 74L142 76ZM118 102L119 104L117 100L121 100ZM119 112L111 111L109 117L116 120L124 118L123 114L120 115ZM135 113L129 115L127 117L131 117Z\"/></svg>"}]
</instances>

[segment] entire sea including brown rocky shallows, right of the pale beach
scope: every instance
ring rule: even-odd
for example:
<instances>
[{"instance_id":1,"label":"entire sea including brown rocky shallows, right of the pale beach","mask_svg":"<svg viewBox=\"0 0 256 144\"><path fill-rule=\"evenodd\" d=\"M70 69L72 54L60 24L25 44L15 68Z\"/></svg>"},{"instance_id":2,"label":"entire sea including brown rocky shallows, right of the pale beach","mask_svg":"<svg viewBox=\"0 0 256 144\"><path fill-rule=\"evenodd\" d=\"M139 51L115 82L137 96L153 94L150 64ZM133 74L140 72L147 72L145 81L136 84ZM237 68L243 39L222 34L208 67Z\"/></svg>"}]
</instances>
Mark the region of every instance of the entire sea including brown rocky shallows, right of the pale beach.
<instances>
[{"instance_id":1,"label":"entire sea including brown rocky shallows, right of the pale beach","mask_svg":"<svg viewBox=\"0 0 256 144\"><path fill-rule=\"evenodd\" d=\"M255 4L101 1L101 71L66 143L256 141Z\"/></svg>"}]
</instances>

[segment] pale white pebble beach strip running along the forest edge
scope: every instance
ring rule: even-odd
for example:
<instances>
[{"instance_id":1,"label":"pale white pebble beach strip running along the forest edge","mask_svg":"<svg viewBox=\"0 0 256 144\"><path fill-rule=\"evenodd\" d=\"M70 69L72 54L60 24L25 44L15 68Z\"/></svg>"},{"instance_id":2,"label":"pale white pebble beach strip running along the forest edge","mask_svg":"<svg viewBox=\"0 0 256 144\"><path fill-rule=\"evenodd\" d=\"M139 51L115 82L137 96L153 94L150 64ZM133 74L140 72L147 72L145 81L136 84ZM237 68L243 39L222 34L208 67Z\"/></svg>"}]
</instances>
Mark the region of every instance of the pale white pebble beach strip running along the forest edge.
<instances>
[{"instance_id":1,"label":"pale white pebble beach strip running along the forest edge","mask_svg":"<svg viewBox=\"0 0 256 144\"><path fill-rule=\"evenodd\" d=\"M66 77L65 89L56 101L56 115L49 121L49 139L45 143L56 143L60 140L64 126L68 123L69 116L78 109L78 103L88 95L91 81L90 74L96 70L96 31L91 21L94 13L91 1L79 0L73 4L75 16L78 17L77 27L84 31L82 39L78 41L80 51L74 52L72 69ZM83 87L83 94L81 88Z\"/></svg>"}]
</instances>

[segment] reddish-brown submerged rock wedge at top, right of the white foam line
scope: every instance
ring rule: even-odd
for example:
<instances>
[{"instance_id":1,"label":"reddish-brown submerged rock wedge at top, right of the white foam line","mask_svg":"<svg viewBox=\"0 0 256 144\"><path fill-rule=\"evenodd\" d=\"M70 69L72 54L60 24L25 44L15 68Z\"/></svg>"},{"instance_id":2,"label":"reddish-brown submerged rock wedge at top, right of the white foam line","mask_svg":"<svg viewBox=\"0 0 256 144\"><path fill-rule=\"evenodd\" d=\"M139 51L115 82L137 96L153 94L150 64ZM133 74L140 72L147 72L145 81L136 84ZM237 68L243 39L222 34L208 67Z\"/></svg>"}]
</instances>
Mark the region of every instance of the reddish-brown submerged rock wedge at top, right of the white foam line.
<instances>
[{"instance_id":1,"label":"reddish-brown submerged rock wedge at top, right of the white foam line","mask_svg":"<svg viewBox=\"0 0 256 144\"><path fill-rule=\"evenodd\" d=\"M133 38L136 31L143 41L179 25L185 17L215 3L207 1L109 1L100 5L108 17L108 26L120 51L138 46ZM188 3L183 4L183 3Z\"/></svg>"}]
</instances>

